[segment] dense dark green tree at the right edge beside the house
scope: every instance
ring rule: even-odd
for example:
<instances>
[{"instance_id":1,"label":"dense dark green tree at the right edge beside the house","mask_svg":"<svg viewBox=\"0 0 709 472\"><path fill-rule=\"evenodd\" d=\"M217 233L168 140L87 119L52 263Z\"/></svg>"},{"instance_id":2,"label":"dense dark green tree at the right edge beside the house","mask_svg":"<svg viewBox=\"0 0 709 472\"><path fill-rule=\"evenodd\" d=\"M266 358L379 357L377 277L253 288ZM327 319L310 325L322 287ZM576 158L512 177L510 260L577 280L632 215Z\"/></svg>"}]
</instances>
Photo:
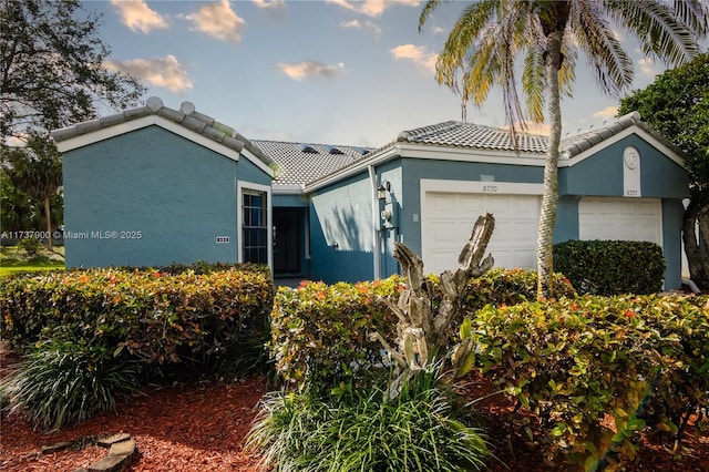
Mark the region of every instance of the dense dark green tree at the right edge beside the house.
<instances>
[{"instance_id":1,"label":"dense dark green tree at the right edge beside the house","mask_svg":"<svg viewBox=\"0 0 709 472\"><path fill-rule=\"evenodd\" d=\"M618 114L634 110L685 154L690 202L685 211L682 240L691 279L707 290L709 257L702 255L701 246L709 250L709 52L657 75L647 88L623 99Z\"/></svg>"}]
</instances>

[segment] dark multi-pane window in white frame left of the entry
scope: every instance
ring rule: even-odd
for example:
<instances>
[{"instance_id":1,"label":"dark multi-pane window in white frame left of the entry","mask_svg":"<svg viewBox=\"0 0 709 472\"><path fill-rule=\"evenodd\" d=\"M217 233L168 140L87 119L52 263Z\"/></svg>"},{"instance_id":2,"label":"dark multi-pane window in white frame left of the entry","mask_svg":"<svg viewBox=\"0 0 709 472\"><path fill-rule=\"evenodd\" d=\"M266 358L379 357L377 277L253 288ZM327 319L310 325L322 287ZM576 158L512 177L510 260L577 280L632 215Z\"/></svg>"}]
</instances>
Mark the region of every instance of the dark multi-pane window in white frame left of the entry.
<instances>
[{"instance_id":1,"label":"dark multi-pane window in white frame left of the entry","mask_svg":"<svg viewBox=\"0 0 709 472\"><path fill-rule=\"evenodd\" d=\"M268 205L266 192L244 188L242 239L245 263L268 264Z\"/></svg>"}]
</instances>

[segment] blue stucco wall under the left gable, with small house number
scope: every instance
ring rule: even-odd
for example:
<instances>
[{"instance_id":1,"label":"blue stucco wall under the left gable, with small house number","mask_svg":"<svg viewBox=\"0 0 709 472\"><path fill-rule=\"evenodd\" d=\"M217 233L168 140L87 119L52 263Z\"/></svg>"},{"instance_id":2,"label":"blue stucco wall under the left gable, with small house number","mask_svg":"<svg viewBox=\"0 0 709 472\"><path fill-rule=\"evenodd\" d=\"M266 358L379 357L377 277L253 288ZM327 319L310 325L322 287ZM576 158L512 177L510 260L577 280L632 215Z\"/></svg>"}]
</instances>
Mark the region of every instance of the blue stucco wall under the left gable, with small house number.
<instances>
[{"instance_id":1,"label":"blue stucco wall under the left gable, with small house number","mask_svg":"<svg viewBox=\"0 0 709 472\"><path fill-rule=\"evenodd\" d=\"M69 151L63 172L65 232L88 236L65 239L68 267L236 261L237 178L270 184L246 158L158 126ZM94 237L106 232L117 237Z\"/></svg>"}]
</instances>

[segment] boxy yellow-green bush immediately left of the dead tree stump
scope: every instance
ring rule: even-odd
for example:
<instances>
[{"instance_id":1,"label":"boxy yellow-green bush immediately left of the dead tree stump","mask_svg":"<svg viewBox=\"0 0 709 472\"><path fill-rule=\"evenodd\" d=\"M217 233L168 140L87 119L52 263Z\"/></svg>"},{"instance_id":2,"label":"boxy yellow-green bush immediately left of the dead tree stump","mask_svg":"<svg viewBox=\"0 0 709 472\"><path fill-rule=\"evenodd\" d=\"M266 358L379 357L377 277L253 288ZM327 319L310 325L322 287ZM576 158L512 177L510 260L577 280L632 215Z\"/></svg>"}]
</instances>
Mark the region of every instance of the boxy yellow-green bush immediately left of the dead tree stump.
<instances>
[{"instance_id":1,"label":"boxy yellow-green bush immediately left of the dead tree stump","mask_svg":"<svg viewBox=\"0 0 709 472\"><path fill-rule=\"evenodd\" d=\"M323 391L364 381L382 369L381 346L368 338L395 329L397 319L381 297L402 287L399 277L372 283L280 287L271 312L271 353L284 380Z\"/></svg>"}]
</instances>

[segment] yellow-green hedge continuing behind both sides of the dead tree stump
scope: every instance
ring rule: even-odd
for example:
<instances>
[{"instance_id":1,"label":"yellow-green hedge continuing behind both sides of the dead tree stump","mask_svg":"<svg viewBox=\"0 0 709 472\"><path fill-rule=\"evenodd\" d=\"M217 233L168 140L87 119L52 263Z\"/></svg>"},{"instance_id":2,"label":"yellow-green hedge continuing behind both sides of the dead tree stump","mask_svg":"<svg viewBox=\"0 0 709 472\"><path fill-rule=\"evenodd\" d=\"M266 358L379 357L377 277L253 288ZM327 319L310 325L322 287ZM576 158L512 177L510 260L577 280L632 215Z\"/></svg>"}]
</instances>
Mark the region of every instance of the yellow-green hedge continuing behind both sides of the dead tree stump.
<instances>
[{"instance_id":1,"label":"yellow-green hedge continuing behind both sides of the dead tree stump","mask_svg":"<svg viewBox=\"0 0 709 472\"><path fill-rule=\"evenodd\" d=\"M486 304L514 305L536 298L536 273L493 269L470 283L460 320L453 322L451 340L465 315ZM429 276L433 302L439 302L438 277ZM554 287L558 297L575 291L556 274ZM298 289L280 288L271 314L271 353L276 369L290 384L329 389L341 382L369 381L382 370L381 345L370 341L368 334L378 331L390 342L395 338L397 318L383 297L398 299L403 278L392 276L373 283L326 285L308 283Z\"/></svg>"}]
</instances>

